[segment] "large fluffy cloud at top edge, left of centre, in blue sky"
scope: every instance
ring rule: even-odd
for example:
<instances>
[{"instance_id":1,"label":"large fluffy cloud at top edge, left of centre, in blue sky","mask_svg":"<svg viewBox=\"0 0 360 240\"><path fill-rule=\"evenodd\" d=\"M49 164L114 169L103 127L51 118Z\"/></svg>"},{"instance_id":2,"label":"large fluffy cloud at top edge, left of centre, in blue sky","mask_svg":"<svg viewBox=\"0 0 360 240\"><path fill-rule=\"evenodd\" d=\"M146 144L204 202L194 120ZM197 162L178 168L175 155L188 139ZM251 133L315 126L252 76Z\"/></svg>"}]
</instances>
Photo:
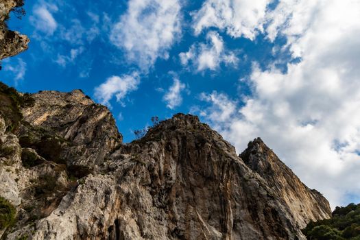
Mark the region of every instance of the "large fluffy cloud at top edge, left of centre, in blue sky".
<instances>
[{"instance_id":1,"label":"large fluffy cloud at top edge, left of centre, in blue sky","mask_svg":"<svg viewBox=\"0 0 360 240\"><path fill-rule=\"evenodd\" d=\"M180 19L179 0L130 0L110 40L147 70L157 58L169 57L167 51L180 36Z\"/></svg>"}]
</instances>

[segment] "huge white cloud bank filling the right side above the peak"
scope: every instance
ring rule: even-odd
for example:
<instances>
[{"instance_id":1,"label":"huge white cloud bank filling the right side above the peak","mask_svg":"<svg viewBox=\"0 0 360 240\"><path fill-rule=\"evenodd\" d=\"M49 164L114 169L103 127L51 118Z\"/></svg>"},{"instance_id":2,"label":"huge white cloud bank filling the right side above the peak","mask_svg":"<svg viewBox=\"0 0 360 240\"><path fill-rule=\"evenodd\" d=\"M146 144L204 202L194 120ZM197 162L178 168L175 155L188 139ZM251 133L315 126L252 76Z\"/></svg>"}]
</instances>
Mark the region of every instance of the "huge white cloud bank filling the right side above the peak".
<instances>
[{"instance_id":1,"label":"huge white cloud bank filling the right side above the peak","mask_svg":"<svg viewBox=\"0 0 360 240\"><path fill-rule=\"evenodd\" d=\"M251 96L204 95L202 115L239 152L261 136L333 207L359 201L360 2L283 0L268 14L268 37L286 36L301 62L286 73L254 64Z\"/></svg>"}]
</instances>

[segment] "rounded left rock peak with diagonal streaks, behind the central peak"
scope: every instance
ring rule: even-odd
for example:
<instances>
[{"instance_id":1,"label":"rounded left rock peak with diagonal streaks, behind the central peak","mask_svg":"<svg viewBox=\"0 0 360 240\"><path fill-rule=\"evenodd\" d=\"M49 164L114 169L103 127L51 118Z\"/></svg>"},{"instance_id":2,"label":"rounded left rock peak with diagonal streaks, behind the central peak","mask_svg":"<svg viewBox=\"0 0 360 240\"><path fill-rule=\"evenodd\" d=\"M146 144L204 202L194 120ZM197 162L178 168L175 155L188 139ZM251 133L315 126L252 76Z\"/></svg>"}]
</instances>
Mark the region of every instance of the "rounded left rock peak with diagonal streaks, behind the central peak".
<instances>
[{"instance_id":1,"label":"rounded left rock peak with diagonal streaks, behind the central peak","mask_svg":"<svg viewBox=\"0 0 360 240\"><path fill-rule=\"evenodd\" d=\"M45 154L45 157L56 158L48 160L95 167L111 149L121 144L122 136L108 108L95 104L82 91L43 91L32 98L34 105L22 110L29 127L22 128L21 139L29 140L28 147L41 148L38 145L53 142L53 136L57 136L56 141L62 143L49 151L58 150L58 156ZM34 128L40 134L29 134L34 133Z\"/></svg>"}]
</instances>

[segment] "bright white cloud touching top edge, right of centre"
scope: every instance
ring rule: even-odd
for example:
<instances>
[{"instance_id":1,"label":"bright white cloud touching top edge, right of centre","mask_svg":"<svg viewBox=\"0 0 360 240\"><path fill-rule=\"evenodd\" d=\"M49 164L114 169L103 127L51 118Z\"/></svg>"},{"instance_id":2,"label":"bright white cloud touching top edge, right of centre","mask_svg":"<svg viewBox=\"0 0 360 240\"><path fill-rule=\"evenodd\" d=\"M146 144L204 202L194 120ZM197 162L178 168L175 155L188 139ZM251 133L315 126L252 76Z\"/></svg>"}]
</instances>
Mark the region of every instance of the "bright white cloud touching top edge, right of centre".
<instances>
[{"instance_id":1,"label":"bright white cloud touching top edge, right of centre","mask_svg":"<svg viewBox=\"0 0 360 240\"><path fill-rule=\"evenodd\" d=\"M233 37L254 39L263 31L267 5L272 0L206 0L193 12L193 29L198 35L203 29L217 27Z\"/></svg>"}]
</instances>

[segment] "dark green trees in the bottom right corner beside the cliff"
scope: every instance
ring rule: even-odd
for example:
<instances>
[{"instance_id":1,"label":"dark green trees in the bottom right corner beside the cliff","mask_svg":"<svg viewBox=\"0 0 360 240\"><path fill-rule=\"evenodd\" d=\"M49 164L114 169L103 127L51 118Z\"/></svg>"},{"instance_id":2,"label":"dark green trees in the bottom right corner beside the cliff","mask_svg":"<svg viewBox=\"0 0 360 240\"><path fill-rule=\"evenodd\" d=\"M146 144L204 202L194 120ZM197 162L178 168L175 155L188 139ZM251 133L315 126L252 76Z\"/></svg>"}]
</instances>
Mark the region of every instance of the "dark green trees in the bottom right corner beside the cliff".
<instances>
[{"instance_id":1,"label":"dark green trees in the bottom right corner beside the cliff","mask_svg":"<svg viewBox=\"0 0 360 240\"><path fill-rule=\"evenodd\" d=\"M331 219L311 221L302 232L313 240L360 240L360 204L337 206Z\"/></svg>"}]
</instances>

